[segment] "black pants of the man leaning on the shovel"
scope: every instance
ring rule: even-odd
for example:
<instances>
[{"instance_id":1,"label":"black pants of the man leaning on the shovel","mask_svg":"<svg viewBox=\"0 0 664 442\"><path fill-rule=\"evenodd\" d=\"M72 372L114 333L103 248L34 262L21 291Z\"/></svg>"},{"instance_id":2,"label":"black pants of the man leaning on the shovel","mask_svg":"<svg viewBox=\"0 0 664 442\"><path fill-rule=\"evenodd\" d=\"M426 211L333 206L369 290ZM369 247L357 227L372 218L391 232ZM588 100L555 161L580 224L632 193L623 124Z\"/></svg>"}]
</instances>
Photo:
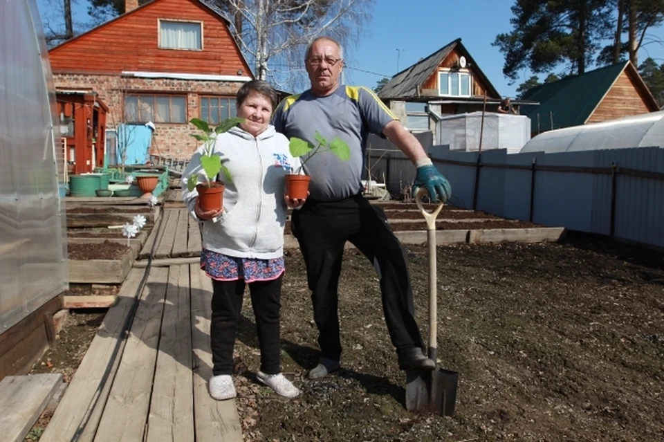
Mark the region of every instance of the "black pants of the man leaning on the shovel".
<instances>
[{"instance_id":1,"label":"black pants of the man leaning on the shovel","mask_svg":"<svg viewBox=\"0 0 664 442\"><path fill-rule=\"evenodd\" d=\"M377 268L382 310L396 350L424 347L414 317L407 255L382 209L361 195L330 203L308 200L302 209L293 210L291 225L306 264L324 358L339 360L341 356L338 286L346 241Z\"/></svg>"}]
</instances>

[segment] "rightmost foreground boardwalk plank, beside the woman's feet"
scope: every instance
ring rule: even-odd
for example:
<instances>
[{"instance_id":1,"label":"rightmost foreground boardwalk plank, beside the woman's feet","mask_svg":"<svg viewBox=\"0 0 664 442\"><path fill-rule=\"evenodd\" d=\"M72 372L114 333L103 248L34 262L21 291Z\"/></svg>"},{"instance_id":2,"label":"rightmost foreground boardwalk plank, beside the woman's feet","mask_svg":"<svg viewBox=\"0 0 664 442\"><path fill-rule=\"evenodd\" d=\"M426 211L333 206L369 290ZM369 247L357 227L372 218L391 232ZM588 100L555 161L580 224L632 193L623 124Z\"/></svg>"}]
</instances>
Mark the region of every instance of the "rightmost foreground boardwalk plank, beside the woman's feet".
<instances>
[{"instance_id":1,"label":"rightmost foreground boardwalk plank, beside the woman's feet","mask_svg":"<svg viewBox=\"0 0 664 442\"><path fill-rule=\"evenodd\" d=\"M241 442L242 429L235 400L214 400L208 393L212 376L210 353L210 278L190 266L192 286L192 344L194 345L194 418L196 440Z\"/></svg>"}]
</instances>

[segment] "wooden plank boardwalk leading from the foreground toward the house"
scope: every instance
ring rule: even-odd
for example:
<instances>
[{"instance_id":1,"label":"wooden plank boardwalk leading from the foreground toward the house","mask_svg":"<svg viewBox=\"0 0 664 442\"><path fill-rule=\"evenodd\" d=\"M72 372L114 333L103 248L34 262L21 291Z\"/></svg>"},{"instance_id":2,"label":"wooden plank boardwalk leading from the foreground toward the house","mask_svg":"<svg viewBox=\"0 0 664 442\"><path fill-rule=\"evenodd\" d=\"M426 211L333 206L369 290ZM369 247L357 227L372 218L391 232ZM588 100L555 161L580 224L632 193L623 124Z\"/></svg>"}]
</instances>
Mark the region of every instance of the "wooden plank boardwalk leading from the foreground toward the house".
<instances>
[{"instance_id":1,"label":"wooden plank boardwalk leading from the foreground toward the house","mask_svg":"<svg viewBox=\"0 0 664 442\"><path fill-rule=\"evenodd\" d=\"M208 394L210 279L195 263L150 265L199 255L190 219L163 211L40 441L242 441L234 400Z\"/></svg>"}]
</instances>

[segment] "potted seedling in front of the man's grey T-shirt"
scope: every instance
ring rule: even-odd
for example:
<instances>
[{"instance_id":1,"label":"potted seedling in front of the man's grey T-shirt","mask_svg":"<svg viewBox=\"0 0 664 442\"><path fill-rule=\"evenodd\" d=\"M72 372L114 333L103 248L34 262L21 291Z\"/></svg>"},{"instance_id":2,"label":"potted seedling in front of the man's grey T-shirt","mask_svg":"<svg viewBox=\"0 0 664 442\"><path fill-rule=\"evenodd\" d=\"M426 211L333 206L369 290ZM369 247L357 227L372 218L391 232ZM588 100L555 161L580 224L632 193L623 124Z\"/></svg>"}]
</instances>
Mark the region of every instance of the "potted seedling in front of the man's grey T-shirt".
<instances>
[{"instance_id":1,"label":"potted seedling in front of the man's grey T-shirt","mask_svg":"<svg viewBox=\"0 0 664 442\"><path fill-rule=\"evenodd\" d=\"M302 138L293 137L291 142L288 145L289 150L291 151L291 156L302 157L308 155L304 160L301 161L301 164L297 169L293 171L292 174L286 174L286 195L290 199L305 199L309 189L309 181L311 177L308 175L301 175L302 167L310 160L315 154L324 151L331 151L335 154L340 160L346 161L351 157L351 151L340 138L333 138L331 142L328 142L323 136L316 131L315 139L317 145L311 144Z\"/></svg>"}]
</instances>

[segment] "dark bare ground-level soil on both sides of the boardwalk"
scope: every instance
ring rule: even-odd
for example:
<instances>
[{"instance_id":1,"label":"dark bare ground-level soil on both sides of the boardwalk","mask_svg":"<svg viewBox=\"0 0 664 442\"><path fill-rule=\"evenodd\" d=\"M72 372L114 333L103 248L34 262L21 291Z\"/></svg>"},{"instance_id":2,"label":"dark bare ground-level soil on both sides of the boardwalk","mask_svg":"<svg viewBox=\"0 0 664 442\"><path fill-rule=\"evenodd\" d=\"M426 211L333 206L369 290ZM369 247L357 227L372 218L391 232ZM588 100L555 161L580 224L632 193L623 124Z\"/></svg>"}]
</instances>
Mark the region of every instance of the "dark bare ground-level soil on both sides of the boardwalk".
<instances>
[{"instance_id":1,"label":"dark bare ground-level soil on both sides of the boardwalk","mask_svg":"<svg viewBox=\"0 0 664 442\"><path fill-rule=\"evenodd\" d=\"M426 341L427 249L407 251ZM664 255L569 233L553 244L441 246L437 262L439 365L460 373L452 418L404 409L378 279L356 250L345 252L339 285L342 369L306 378L317 331L304 262L288 250L282 369L302 396L284 400L256 383L246 296L234 358L245 441L661 440ZM71 376L101 320L85 314L70 318L36 370Z\"/></svg>"}]
</instances>

